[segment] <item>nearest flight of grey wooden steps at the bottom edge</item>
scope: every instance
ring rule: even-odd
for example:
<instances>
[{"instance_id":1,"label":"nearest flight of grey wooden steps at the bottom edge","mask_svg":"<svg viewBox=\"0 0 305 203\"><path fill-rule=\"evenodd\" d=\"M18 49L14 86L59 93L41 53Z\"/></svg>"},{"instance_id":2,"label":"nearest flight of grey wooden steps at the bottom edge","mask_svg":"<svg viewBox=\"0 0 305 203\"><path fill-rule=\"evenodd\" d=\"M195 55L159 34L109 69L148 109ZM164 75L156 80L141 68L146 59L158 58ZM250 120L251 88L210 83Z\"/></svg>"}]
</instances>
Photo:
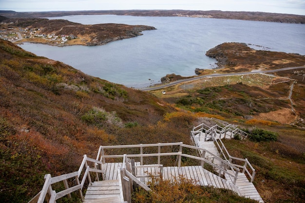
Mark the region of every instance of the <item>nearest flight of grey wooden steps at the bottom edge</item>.
<instances>
[{"instance_id":1,"label":"nearest flight of grey wooden steps at the bottom edge","mask_svg":"<svg viewBox=\"0 0 305 203\"><path fill-rule=\"evenodd\" d=\"M121 203L118 180L90 183L86 191L84 203Z\"/></svg>"}]
</instances>

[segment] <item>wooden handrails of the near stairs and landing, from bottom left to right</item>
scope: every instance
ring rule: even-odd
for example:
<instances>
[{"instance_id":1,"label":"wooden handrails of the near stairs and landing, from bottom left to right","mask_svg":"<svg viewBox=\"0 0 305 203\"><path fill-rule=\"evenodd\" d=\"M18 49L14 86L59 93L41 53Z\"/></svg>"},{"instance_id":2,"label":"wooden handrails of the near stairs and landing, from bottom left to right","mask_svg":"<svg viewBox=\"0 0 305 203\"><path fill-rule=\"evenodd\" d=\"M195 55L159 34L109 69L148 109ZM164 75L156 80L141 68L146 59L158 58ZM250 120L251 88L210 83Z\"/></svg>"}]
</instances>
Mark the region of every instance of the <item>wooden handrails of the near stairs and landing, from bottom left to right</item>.
<instances>
[{"instance_id":1,"label":"wooden handrails of the near stairs and landing, from bottom left to right","mask_svg":"<svg viewBox=\"0 0 305 203\"><path fill-rule=\"evenodd\" d=\"M179 149L179 152L166 152L166 153L161 153L161 150L160 150L160 147L161 146L180 146L180 149ZM158 153L150 153L150 154L144 154L143 151L141 150L141 154L118 154L118 155L104 155L104 149L111 149L111 148L143 148L143 147L158 147ZM222 163L222 166L224 167L221 167L221 166L217 166L215 164L213 164L212 162L210 162L209 160L205 159L204 157L198 157L198 156L193 156L193 155L190 155L190 154L185 154L185 153L182 153L183 151L183 148L191 148L191 149L197 149L197 150L202 150L204 151L205 153L210 153L210 155L214 158L214 159L217 159L219 160L221 163ZM102 153L101 153L102 152ZM229 153L228 153L229 154ZM159 144L141 144L141 145L122 145L122 146L101 146L99 148L99 153L98 153L98 156L101 155L101 159L100 160L104 160L105 158L123 158L124 159L124 162L123 162L123 168L126 168L126 159L127 158L130 158L130 157L160 157L160 156L173 156L173 155L177 155L179 157L179 160L178 162L178 166L181 165L181 157L188 157L188 158L192 158L192 159L196 159L196 160L200 160L204 163L207 163L215 168L218 168L222 173L227 173L229 175L229 177L231 179L234 179L232 182L235 184L236 183L236 179L237 179L237 174L238 172L240 171L239 167L241 168L244 168L245 171L247 171L248 175L251 177L251 180L253 180L254 178L254 175L255 175L255 170L254 168L250 165L250 163L248 162L247 159L240 159L240 158L236 158L236 157L232 157L232 156L229 156L230 159L236 159L236 160L243 160L245 161L245 165L244 166L236 166L236 165L233 165L231 164L230 162L227 162L226 160L223 160L221 159L220 157L218 157L217 155L211 153L209 150L207 149L204 149L204 148L199 148L199 147L195 147L195 146L190 146L190 145L185 145L183 144L182 142L179 142L179 143L159 143ZM51 174L46 174L45 175L45 183L43 185L43 188L42 190L39 192L39 198L38 195L33 198L29 203L36 203L35 200L37 200L37 203L43 203L44 200L45 200L45 197L46 197L46 194L48 193L49 196L50 196L50 201L49 203L54 203L57 199L65 196L65 195L68 195L68 194L71 194L72 192L76 191L76 190L82 190L83 187L84 187L84 184L85 184L85 181L86 179L89 180L89 182L91 182L91 178L90 178L90 172L96 172L96 173L103 173L103 170L101 169L97 169L96 167L94 168L90 168L90 166L88 166L87 162L92 162L94 163L95 165L102 165L103 164L103 161L99 161L98 160L98 157L95 159L92 159L92 158L88 158L86 155L83 156L83 160L82 160L82 163L78 169L78 171L75 171L75 172L72 172L72 173L69 173L69 174L64 174L64 175L60 175L60 176L57 176L57 177L51 177ZM158 158L158 165L146 165L146 166L136 166L136 167L163 167L163 165L160 165L159 164L160 162L160 159ZM84 167L86 166L86 167ZM254 173L252 173L252 175L249 174L248 172L248 168L247 166L249 166L253 171ZM81 182L79 182L79 177L83 171L83 169L85 168L85 172L82 176L82 180ZM231 168L232 171L235 171L235 175L229 173L226 169L227 168ZM131 171L128 171L130 174L132 174ZM133 176L130 176L129 173L126 173L128 174L128 177L130 179L134 179ZM161 175L162 176L162 175ZM59 192L56 192L54 190L52 190L52 184L55 184L55 183L58 183L58 182L66 182L68 179L71 179L75 177L76 178L76 184L75 186L72 186L72 187L68 187L67 183L65 184L66 186L66 189L65 190L62 190L62 191L59 191ZM135 177L135 176L134 176ZM123 177L122 177L123 178ZM136 178L135 178L136 179ZM136 180L133 180L136 182ZM80 192L81 194L81 192ZM82 195L81 195L82 196Z\"/></svg>"}]
</instances>

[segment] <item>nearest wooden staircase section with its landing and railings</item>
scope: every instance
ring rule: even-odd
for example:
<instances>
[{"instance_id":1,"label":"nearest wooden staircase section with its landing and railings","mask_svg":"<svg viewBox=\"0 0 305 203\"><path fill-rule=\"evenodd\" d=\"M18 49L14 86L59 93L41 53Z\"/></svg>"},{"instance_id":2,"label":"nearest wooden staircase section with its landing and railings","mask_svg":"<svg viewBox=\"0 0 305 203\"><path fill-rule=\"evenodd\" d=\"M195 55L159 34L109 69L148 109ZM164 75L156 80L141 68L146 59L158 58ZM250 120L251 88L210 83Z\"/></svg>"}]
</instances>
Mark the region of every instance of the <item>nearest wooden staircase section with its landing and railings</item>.
<instances>
[{"instance_id":1,"label":"nearest wooden staircase section with its landing and railings","mask_svg":"<svg viewBox=\"0 0 305 203\"><path fill-rule=\"evenodd\" d=\"M213 138L213 137L212 137ZM214 139L219 140L220 139ZM215 144L216 143L216 144ZM223 146L223 143L221 143ZM147 153L146 148L156 148L157 153ZM133 151L139 151L139 154L112 154L105 150L112 151L114 148L120 148L121 152L126 148L133 148ZM174 149L173 151L168 150ZM184 150L187 149L187 150ZM206 149L208 148L208 149ZM218 142L207 141L203 143L203 147L195 147L180 143L157 143L157 144L139 144L139 145L124 145L124 146L100 146L96 159L92 159L84 155L83 161L78 171L52 177L51 174L45 175L45 183L42 190L29 203L56 203L56 200L64 196L72 198L71 193L76 192L84 203L131 203L131 194L133 186L139 185L147 191L151 189L146 185L153 177L162 177L164 180L180 181L181 177L195 181L196 185L214 186L217 188L227 188L237 192L241 196L245 196L260 203L263 203L262 198L257 192L252 181L255 176L255 170L250 165L247 159L241 159L229 156L229 159L222 159L223 148L220 153ZM164 150L166 149L166 150ZM177 151L177 149L179 151ZM151 150L151 149L150 149ZM197 150L197 155L194 155L194 150ZM185 153L187 152L187 153ZM191 153L188 153L191 152ZM177 166L163 167L161 157L176 156ZM137 159L130 159L134 157ZM155 157L156 164L145 165L143 158ZM198 160L201 166L181 166L182 157ZM120 163L107 163L105 159L123 158ZM136 162L136 161L137 162ZM242 166L233 164L231 160L242 162ZM139 162L138 162L139 161ZM218 165L219 162L220 166ZM238 162L236 162L238 163ZM217 174L213 174L204 167L212 166ZM249 172L248 167L253 173ZM243 169L243 170L240 170ZM230 169L230 170L229 170ZM243 171L243 173L238 173ZM250 181L247 179L248 174ZM92 176L95 174L95 176ZM92 178L95 178L92 180ZM103 181L99 181L102 177ZM225 179L224 179L225 178ZM52 185L63 183L64 189L56 191ZM86 189L86 194L83 197L83 190Z\"/></svg>"}]
</instances>

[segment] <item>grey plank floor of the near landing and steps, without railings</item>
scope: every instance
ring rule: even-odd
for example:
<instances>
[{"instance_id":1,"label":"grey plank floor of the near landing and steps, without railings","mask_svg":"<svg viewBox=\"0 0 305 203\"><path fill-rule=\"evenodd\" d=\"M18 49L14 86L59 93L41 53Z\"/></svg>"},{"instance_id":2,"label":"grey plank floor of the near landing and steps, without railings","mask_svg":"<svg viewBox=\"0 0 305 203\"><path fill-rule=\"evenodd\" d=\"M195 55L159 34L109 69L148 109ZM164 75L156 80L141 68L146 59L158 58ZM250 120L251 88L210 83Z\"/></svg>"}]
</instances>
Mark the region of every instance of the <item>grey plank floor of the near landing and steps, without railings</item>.
<instances>
[{"instance_id":1,"label":"grey plank floor of the near landing and steps, without railings","mask_svg":"<svg viewBox=\"0 0 305 203\"><path fill-rule=\"evenodd\" d=\"M102 189L101 184L102 182L95 182L89 185L88 190L85 195L85 203L94 203L88 202L89 200L101 197L111 197L115 203L119 198L119 191L118 186L115 187L115 184L118 184L118 170L117 168L121 166L121 163L106 163L103 165L105 170L103 180L109 181L108 185L109 190ZM140 163L135 163L135 165L140 165ZM170 181L178 181L180 182L181 178L185 178L188 180L192 180L194 184L202 185L202 186L214 186L216 188L226 188L236 192L240 196L245 196L250 199L254 199L260 203L263 203L263 200L259 193L257 192L255 186L252 183L249 183L247 177L244 173L239 173L238 180L236 185L230 181L229 176L226 175L226 179L223 179L210 171L202 168L201 166L168 166L163 167L163 180L170 180ZM159 174L160 171L157 167L141 167L136 169L136 175L149 175L149 174ZM148 184L151 182L152 179L150 177L145 178L138 178L142 183ZM111 182L113 181L113 182ZM104 182L104 181L103 181ZM113 190L113 191L110 191ZM110 201L110 200L109 200ZM101 202L102 203L102 202ZM111 202L112 203L112 202Z\"/></svg>"}]
</instances>

